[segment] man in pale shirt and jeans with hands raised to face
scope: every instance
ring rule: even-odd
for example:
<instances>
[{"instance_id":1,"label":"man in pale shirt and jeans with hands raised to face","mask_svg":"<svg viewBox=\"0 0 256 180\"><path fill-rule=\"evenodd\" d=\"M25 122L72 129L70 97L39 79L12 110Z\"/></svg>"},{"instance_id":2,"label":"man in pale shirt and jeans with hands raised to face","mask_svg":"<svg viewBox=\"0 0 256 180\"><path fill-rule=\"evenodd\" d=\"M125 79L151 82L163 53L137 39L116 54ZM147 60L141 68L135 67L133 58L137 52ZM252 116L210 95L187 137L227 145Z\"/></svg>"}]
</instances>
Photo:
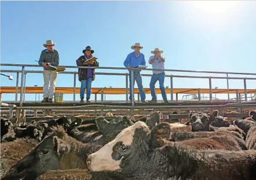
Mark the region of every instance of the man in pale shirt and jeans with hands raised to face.
<instances>
[{"instance_id":1,"label":"man in pale shirt and jeans with hands raised to face","mask_svg":"<svg viewBox=\"0 0 256 180\"><path fill-rule=\"evenodd\" d=\"M161 56L163 51L159 50L159 48L155 48L155 50L151 51L151 53L154 55L149 57L148 63L152 64L152 68L153 69L164 69L165 58L163 56ZM153 75L151 76L151 81L149 84L151 96L152 96L151 102L156 102L155 84L158 80L159 80L159 86L160 86L163 100L166 103L169 102L167 100L166 92L165 92L164 85L163 85L164 76L165 76L164 71L153 71Z\"/></svg>"}]
</instances>

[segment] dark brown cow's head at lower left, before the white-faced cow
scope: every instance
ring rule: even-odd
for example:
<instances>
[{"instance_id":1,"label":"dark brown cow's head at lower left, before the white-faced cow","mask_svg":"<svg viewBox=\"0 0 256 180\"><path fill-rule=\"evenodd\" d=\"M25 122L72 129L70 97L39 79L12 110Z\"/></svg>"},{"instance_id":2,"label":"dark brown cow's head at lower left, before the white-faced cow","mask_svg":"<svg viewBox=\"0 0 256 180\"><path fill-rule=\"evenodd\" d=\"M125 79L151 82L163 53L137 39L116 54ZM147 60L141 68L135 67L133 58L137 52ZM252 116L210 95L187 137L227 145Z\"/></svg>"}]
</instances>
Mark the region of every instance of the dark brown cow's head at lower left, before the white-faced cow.
<instances>
[{"instance_id":1,"label":"dark brown cow's head at lower left, before the white-faced cow","mask_svg":"<svg viewBox=\"0 0 256 180\"><path fill-rule=\"evenodd\" d=\"M16 163L2 179L36 179L50 170L87 168L90 147L68 136L63 128L53 128L28 155Z\"/></svg>"}]
</instances>

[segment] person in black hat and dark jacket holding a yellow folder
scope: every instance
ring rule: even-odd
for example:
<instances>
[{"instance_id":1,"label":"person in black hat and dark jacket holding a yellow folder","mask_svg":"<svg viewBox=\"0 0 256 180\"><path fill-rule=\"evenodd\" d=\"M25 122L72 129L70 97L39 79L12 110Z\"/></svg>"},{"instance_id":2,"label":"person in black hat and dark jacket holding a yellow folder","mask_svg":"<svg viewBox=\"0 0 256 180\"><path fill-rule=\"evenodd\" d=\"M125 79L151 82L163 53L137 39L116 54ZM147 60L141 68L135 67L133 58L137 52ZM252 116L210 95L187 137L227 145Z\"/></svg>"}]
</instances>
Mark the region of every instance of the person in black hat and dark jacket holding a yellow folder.
<instances>
[{"instance_id":1,"label":"person in black hat and dark jacket holding a yellow folder","mask_svg":"<svg viewBox=\"0 0 256 180\"><path fill-rule=\"evenodd\" d=\"M86 67L98 67L98 62L88 61L86 60L93 57L94 50L90 46L87 46L83 50L83 56L80 56L78 60L76 60L76 65L78 66L86 66ZM85 97L85 89L86 89L86 102L90 101L90 95L92 93L92 82L95 79L95 69L94 68L78 68L78 78L81 82L80 88L80 102L85 102L83 99Z\"/></svg>"}]
</instances>

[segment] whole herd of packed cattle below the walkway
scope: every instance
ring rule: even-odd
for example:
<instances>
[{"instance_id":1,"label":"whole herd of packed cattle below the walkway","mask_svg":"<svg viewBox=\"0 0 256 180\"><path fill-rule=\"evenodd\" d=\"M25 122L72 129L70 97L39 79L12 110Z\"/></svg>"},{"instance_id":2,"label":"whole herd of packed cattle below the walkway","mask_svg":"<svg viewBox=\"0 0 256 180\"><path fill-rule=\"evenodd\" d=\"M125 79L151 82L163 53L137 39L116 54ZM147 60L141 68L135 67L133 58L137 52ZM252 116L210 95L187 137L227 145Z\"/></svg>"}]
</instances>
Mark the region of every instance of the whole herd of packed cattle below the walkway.
<instances>
[{"instance_id":1,"label":"whole herd of packed cattle below the walkway","mask_svg":"<svg viewBox=\"0 0 256 180\"><path fill-rule=\"evenodd\" d=\"M256 179L256 112L227 120L190 112L148 117L54 117L14 127L1 117L1 179Z\"/></svg>"}]
</instances>

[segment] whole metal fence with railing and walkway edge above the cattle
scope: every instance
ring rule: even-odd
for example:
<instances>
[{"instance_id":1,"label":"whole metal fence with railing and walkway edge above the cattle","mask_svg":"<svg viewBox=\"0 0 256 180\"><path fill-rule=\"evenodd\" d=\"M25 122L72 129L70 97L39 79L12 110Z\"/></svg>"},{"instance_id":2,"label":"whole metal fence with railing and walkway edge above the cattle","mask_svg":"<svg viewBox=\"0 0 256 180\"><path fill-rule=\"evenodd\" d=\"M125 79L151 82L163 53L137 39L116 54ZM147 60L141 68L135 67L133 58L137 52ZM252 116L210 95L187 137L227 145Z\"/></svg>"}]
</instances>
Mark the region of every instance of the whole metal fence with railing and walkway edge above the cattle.
<instances>
[{"instance_id":1,"label":"whole metal fence with railing and walkway edge above the cattle","mask_svg":"<svg viewBox=\"0 0 256 180\"><path fill-rule=\"evenodd\" d=\"M165 72L186 72L186 73L200 73L200 74L221 74L224 76L193 76L193 75L166 75L166 79L169 79L170 82L170 102L169 104L163 103L140 103L134 100L134 81L131 80L131 102L129 101L129 74L128 73L110 73L110 72L96 72L96 75L107 75L107 76L125 76L126 88L126 101L122 102L104 102L104 88L101 88L99 94L101 94L101 100L99 102L95 101L90 104L80 104L76 103L75 95L76 95L76 75L78 72L59 72L59 74L71 74L74 75L74 86L73 94L74 99L73 102L63 102L63 103L53 103L53 104L45 104L45 103L34 103L34 102L25 102L24 95L25 95L25 76L27 74L41 74L42 71L35 71L35 70L25 70L28 67L34 68L42 68L39 65L31 65L31 64L1 64L1 67L21 67L21 70L9 70L9 69L1 69L1 72L7 73L16 73L16 87L15 87L15 101L14 102L1 102L1 109L9 108L9 116L12 117L13 111L16 112L16 117L21 117L21 111L25 110L32 110L32 111L81 111L81 109L86 109L86 111L93 110L93 111L100 111L101 114L106 109L126 109L128 110L131 115L134 115L134 111L142 111L145 109L153 110L153 109L163 109L168 111L178 111L178 115L174 115L178 117L181 115L182 109L220 109L220 112L223 112L225 108L256 108L256 101L249 101L247 94L256 93L256 89L247 89L247 80L256 80L256 74L253 73L240 73L240 72L217 72L217 71L191 71L191 70L178 70L178 69L164 69ZM77 66L61 66L65 68L95 68L95 69L111 69L111 70L126 70L126 68L120 67L77 67ZM131 69L131 79L134 79L134 70ZM163 71L163 69L152 69L152 68L145 68L141 69L141 71ZM19 75L21 74L21 81L19 86ZM142 74L142 76L151 76L150 74ZM252 77L231 77L230 75L249 75ZM198 79L208 79L209 80L209 100L202 101L201 98L201 89L196 89L198 94L198 101L178 101L177 93L176 99L174 100L174 87L173 87L173 79L174 78L198 78ZM226 80L226 94L228 94L227 100L219 100L215 101L213 97L213 91L217 92L216 89L212 88L212 79L225 79ZM229 80L236 79L236 80L243 80L243 89L229 89ZM255 85L256 87L256 85ZM193 89L195 90L195 89ZM19 93L20 91L20 93ZM234 93L235 92L235 93ZM229 94L236 94L236 98L230 98ZM243 99L241 98L244 97ZM2 91L1 91L2 94ZM18 94L20 94L20 100L18 100ZM36 113L35 113L36 116Z\"/></svg>"}]
</instances>

